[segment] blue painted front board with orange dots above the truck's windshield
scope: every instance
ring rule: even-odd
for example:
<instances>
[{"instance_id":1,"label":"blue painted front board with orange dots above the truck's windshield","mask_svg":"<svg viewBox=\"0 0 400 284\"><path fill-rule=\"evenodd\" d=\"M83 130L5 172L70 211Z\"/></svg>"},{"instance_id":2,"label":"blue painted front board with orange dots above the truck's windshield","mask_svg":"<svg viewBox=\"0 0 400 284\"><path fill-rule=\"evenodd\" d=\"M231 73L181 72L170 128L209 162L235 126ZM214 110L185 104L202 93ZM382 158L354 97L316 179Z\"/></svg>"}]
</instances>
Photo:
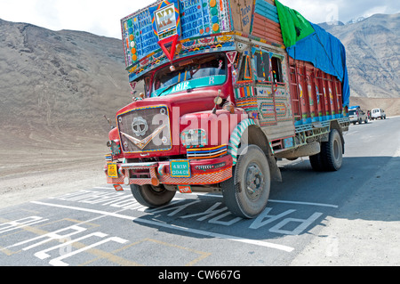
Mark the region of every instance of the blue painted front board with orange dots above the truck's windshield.
<instances>
[{"instance_id":1,"label":"blue painted front board with orange dots above the truck's windshield","mask_svg":"<svg viewBox=\"0 0 400 284\"><path fill-rule=\"evenodd\" d=\"M151 53L158 42L173 35L179 41L230 32L228 0L164 0L121 20L126 67L133 67Z\"/></svg>"}]
</instances>

